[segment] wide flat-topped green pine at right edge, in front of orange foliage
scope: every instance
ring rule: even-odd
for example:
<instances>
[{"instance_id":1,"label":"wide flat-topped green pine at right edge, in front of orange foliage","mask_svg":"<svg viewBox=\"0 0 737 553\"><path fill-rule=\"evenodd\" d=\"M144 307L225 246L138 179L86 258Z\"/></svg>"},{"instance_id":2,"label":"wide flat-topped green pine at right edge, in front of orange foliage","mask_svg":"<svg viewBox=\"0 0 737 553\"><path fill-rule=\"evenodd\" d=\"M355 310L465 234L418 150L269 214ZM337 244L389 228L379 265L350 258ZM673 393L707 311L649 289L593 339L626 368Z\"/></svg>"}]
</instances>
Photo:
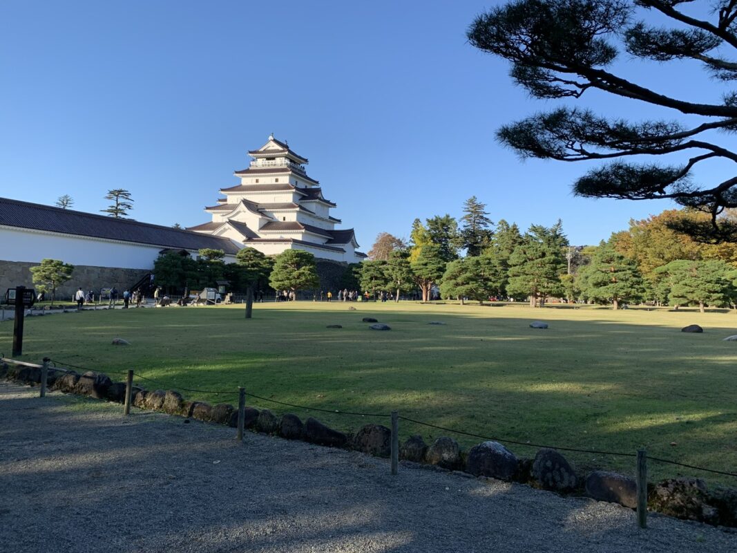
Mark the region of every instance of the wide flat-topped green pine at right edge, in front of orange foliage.
<instances>
[{"instance_id":1,"label":"wide flat-topped green pine at right edge, in front of orange foliage","mask_svg":"<svg viewBox=\"0 0 737 553\"><path fill-rule=\"evenodd\" d=\"M657 268L670 282L668 303L671 305L699 305L704 313L706 305L725 305L733 291L735 268L724 261L671 261Z\"/></svg>"}]
</instances>

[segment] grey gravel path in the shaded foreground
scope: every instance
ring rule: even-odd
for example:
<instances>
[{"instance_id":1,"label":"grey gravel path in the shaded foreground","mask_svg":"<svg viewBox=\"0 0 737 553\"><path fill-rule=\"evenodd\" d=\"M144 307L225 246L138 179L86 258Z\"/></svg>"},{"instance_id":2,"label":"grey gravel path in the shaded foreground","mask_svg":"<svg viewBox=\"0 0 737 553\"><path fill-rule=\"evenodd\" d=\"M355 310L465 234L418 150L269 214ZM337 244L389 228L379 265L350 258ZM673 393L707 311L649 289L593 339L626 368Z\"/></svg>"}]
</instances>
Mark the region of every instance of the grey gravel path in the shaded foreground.
<instances>
[{"instance_id":1,"label":"grey gravel path in the shaded foreground","mask_svg":"<svg viewBox=\"0 0 737 553\"><path fill-rule=\"evenodd\" d=\"M734 552L737 534L0 383L0 551Z\"/></svg>"}]
</instances>

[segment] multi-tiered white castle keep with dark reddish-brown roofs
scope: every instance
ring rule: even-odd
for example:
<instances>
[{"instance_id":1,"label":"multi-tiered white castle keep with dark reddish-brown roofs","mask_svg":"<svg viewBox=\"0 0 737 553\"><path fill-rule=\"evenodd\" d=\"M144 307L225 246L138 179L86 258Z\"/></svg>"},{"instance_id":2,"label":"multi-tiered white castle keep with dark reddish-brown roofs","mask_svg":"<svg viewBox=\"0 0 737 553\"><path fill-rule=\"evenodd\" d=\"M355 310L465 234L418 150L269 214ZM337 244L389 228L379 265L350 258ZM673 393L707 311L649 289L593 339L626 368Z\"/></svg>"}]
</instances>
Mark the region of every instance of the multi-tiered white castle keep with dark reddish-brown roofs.
<instances>
[{"instance_id":1,"label":"multi-tiered white castle keep with dark reddish-brown roofs","mask_svg":"<svg viewBox=\"0 0 737 553\"><path fill-rule=\"evenodd\" d=\"M205 208L212 221L188 230L227 237L265 254L291 248L333 261L366 258L356 250L353 229L335 229L340 223L330 215L335 204L307 175L307 158L273 136L248 154L253 158L250 167L235 173L240 184L220 189L225 198Z\"/></svg>"}]
</instances>

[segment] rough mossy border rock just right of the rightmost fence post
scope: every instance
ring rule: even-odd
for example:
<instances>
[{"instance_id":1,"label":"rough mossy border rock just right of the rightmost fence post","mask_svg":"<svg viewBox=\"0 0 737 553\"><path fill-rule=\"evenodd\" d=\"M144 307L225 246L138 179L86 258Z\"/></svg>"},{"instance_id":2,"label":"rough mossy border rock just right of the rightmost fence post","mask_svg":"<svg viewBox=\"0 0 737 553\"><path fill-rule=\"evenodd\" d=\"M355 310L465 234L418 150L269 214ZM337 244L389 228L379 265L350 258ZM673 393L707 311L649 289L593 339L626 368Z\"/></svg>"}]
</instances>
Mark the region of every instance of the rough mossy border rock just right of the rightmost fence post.
<instances>
[{"instance_id":1,"label":"rough mossy border rock just right of the rightmost fence post","mask_svg":"<svg viewBox=\"0 0 737 553\"><path fill-rule=\"evenodd\" d=\"M719 520L719 511L709 503L702 479L675 478L663 480L649 494L649 507L676 518L711 524Z\"/></svg>"}]
</instances>

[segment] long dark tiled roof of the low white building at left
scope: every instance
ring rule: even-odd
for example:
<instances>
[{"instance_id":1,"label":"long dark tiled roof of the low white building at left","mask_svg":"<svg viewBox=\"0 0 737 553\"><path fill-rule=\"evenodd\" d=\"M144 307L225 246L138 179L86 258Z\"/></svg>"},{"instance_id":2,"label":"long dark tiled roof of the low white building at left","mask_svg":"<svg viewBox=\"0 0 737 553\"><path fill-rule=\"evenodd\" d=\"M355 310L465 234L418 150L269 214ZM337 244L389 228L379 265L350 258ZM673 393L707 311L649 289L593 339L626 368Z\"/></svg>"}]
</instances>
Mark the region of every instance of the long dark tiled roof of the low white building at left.
<instances>
[{"instance_id":1,"label":"long dark tiled roof of the low white building at left","mask_svg":"<svg viewBox=\"0 0 737 553\"><path fill-rule=\"evenodd\" d=\"M238 246L227 238L8 198L0 198L0 225L166 248L213 248L226 254L238 251Z\"/></svg>"}]
</instances>

